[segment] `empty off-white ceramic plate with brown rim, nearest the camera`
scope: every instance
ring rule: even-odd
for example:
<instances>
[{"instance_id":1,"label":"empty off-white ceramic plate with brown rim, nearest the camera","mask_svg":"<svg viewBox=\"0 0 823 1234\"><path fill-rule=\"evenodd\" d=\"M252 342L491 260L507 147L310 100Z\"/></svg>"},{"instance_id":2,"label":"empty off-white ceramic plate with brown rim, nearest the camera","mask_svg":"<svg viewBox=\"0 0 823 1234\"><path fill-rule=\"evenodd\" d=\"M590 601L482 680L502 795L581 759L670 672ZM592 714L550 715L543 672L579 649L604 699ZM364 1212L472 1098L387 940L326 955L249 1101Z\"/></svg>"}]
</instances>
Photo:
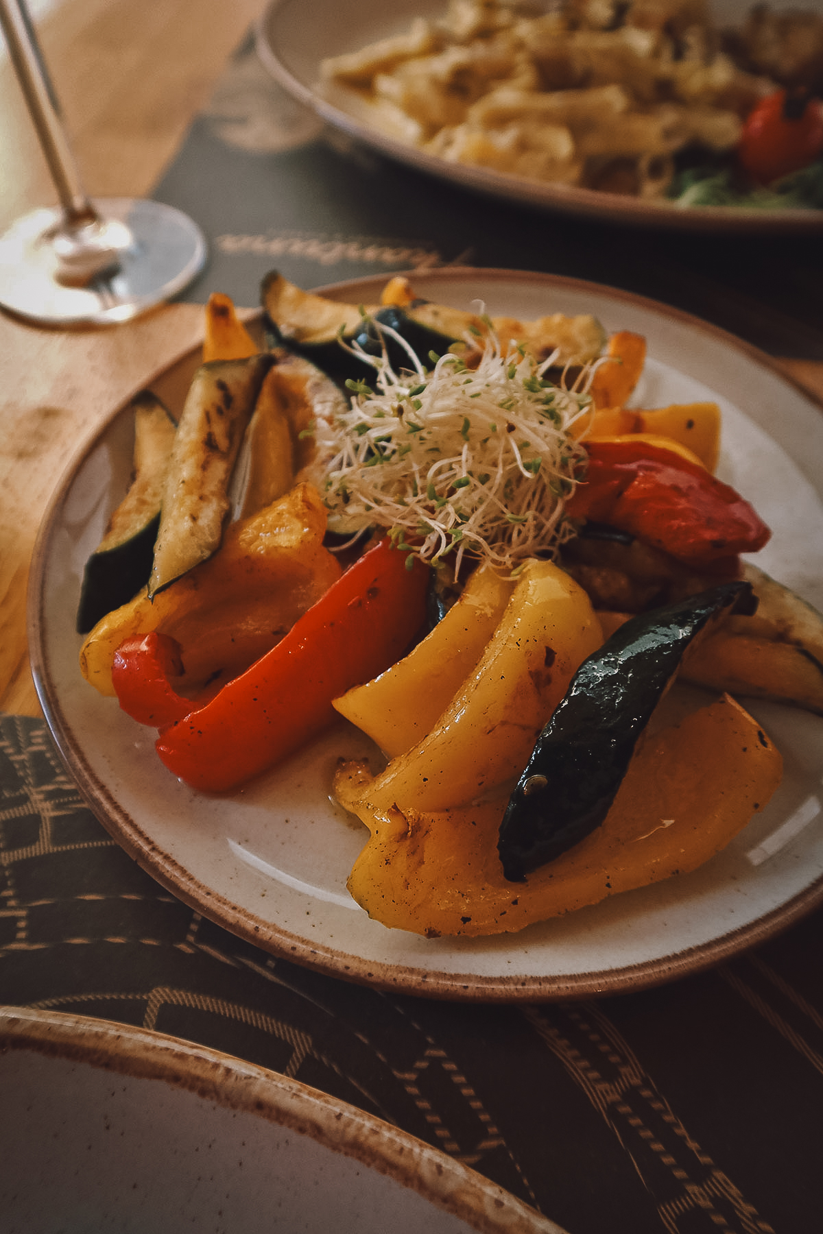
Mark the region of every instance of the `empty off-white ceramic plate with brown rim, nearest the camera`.
<instances>
[{"instance_id":1,"label":"empty off-white ceramic plate with brown rim, nearest the camera","mask_svg":"<svg viewBox=\"0 0 823 1234\"><path fill-rule=\"evenodd\" d=\"M205 1046L0 1008L4 1230L563 1234L437 1149Z\"/></svg>"}]
</instances>

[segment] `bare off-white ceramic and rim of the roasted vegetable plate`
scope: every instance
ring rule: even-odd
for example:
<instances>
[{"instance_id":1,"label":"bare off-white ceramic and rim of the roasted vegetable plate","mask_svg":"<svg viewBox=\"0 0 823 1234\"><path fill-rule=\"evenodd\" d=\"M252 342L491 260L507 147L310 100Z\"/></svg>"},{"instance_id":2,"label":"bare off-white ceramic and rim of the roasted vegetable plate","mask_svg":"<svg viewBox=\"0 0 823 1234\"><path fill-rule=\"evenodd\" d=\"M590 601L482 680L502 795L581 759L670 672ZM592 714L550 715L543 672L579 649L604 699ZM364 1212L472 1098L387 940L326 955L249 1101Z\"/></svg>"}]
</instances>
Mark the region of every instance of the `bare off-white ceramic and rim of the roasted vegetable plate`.
<instances>
[{"instance_id":1,"label":"bare off-white ceramic and rim of the roasted vegetable plate","mask_svg":"<svg viewBox=\"0 0 823 1234\"><path fill-rule=\"evenodd\" d=\"M527 318L593 312L610 331L645 334L638 405L719 401L721 475L774 529L759 563L823 607L823 415L764 355L695 318L595 284L505 270L413 280L420 295L459 307L480 297L492 313ZM375 301L384 281L358 280L333 294ZM194 363L189 357L160 384L178 406ZM341 722L244 791L207 797L162 766L152 729L80 676L73 622L81 571L125 491L131 439L131 413L115 413L47 515L31 584L35 680L91 808L144 869L207 917L276 954L374 986L531 1001L693 971L823 898L823 719L764 703L751 711L784 752L784 782L742 835L695 874L490 939L424 939L370 921L345 890L365 829L328 796L338 755L368 752L362 734Z\"/></svg>"}]
</instances>

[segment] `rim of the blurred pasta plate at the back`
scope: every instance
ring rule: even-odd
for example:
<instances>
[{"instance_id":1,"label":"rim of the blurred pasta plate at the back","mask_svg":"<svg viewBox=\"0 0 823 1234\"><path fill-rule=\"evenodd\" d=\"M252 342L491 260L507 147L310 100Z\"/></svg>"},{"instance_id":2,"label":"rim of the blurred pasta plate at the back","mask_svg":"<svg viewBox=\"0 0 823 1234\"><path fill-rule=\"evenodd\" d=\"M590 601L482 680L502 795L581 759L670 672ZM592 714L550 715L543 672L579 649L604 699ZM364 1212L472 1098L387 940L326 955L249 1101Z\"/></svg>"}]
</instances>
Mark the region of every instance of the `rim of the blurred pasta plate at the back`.
<instances>
[{"instance_id":1,"label":"rim of the blurred pasta plate at the back","mask_svg":"<svg viewBox=\"0 0 823 1234\"><path fill-rule=\"evenodd\" d=\"M532 210L559 211L573 216L612 222L627 227L654 227L661 231L724 232L748 234L821 234L823 210L751 210L743 206L676 206L659 200L631 197L623 194L600 193L576 185L556 185L542 180L506 175L491 168L449 163L428 154L400 138L381 133L362 122L333 102L323 99L286 67L270 37L270 23L276 12L294 0L269 0L255 20L254 46L268 73L299 102L326 123L349 137L380 151L381 154L405 163L426 175L445 179L460 188L517 202Z\"/></svg>"}]
</instances>

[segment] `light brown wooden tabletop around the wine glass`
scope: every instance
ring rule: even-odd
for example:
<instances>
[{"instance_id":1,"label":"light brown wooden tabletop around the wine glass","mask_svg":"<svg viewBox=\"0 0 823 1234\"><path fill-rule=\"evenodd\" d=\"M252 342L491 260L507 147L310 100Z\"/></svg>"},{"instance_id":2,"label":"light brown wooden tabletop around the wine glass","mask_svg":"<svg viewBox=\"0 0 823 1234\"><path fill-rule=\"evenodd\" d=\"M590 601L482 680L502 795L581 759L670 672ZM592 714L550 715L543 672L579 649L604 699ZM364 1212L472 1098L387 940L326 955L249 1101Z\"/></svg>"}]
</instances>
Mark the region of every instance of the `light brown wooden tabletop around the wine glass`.
<instances>
[{"instance_id":1,"label":"light brown wooden tabletop around the wine glass","mask_svg":"<svg viewBox=\"0 0 823 1234\"><path fill-rule=\"evenodd\" d=\"M39 23L90 195L151 193L259 0L63 0ZM0 64L0 227L54 191L7 58ZM0 711L36 716L26 580L69 458L106 413L190 347L202 310L168 305L102 328L35 328L0 313ZM784 362L823 396L823 364Z\"/></svg>"}]
</instances>

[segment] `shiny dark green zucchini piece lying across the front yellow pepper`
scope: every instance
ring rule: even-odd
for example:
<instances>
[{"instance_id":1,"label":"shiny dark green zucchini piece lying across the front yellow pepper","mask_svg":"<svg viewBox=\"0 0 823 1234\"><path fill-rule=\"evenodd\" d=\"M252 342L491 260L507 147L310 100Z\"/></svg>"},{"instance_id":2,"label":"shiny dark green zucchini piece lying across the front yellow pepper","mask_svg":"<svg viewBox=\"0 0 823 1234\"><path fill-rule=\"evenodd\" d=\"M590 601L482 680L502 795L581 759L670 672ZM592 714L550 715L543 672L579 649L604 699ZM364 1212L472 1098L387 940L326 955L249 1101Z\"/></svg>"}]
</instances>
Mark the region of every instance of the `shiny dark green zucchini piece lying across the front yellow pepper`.
<instances>
[{"instance_id":1,"label":"shiny dark green zucchini piece lying across the front yellow pepper","mask_svg":"<svg viewBox=\"0 0 823 1234\"><path fill-rule=\"evenodd\" d=\"M755 608L749 582L724 582L634 617L584 660L508 800L506 879L523 882L600 827L686 648L722 615Z\"/></svg>"}]
</instances>

